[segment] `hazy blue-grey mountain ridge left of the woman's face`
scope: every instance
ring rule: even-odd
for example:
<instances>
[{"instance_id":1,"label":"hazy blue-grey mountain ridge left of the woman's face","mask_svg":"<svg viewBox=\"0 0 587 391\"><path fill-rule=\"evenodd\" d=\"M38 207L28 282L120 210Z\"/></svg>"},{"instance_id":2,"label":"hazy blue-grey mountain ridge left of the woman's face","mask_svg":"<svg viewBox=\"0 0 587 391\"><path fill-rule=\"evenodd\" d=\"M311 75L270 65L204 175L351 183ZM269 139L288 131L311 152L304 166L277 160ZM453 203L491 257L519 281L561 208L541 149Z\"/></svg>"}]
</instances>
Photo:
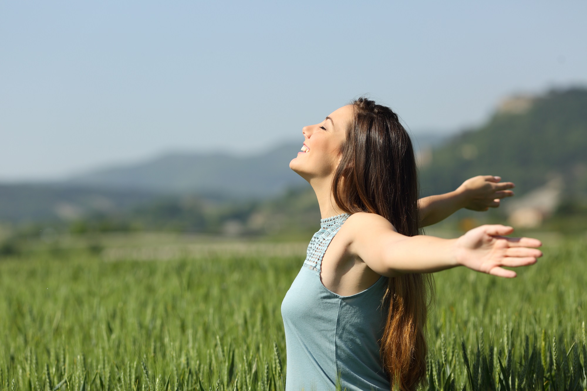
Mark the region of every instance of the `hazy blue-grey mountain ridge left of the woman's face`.
<instances>
[{"instance_id":1,"label":"hazy blue-grey mountain ridge left of the woman's face","mask_svg":"<svg viewBox=\"0 0 587 391\"><path fill-rule=\"evenodd\" d=\"M289 169L289 161L300 147L301 143L286 144L253 157L226 153L168 154L144 163L92 171L68 183L158 193L266 198L306 183Z\"/></svg>"}]
</instances>

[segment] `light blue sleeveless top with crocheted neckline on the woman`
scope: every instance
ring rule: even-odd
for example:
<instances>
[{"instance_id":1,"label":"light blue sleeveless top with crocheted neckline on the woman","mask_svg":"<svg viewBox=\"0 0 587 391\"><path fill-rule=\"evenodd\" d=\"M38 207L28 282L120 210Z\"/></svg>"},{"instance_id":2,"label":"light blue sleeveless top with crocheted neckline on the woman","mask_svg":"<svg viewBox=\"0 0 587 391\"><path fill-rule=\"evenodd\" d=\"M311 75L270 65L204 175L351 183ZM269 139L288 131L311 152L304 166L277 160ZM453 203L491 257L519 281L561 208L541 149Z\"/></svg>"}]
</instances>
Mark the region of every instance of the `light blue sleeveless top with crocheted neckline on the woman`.
<instances>
[{"instance_id":1,"label":"light blue sleeveless top with crocheted neckline on the woman","mask_svg":"<svg viewBox=\"0 0 587 391\"><path fill-rule=\"evenodd\" d=\"M385 325L381 301L387 278L351 296L329 291L320 279L326 248L349 217L320 221L302 269L281 304L287 350L286 391L389 391L379 356Z\"/></svg>"}]
</instances>

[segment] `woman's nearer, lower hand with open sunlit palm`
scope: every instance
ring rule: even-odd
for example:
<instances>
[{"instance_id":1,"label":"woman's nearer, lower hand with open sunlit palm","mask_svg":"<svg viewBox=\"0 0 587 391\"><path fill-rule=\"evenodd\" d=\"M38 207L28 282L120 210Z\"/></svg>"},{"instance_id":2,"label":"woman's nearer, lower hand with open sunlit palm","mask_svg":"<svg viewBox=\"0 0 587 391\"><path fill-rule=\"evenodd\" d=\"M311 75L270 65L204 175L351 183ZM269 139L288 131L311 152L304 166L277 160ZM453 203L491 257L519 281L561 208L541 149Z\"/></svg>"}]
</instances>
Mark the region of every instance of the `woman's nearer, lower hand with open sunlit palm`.
<instances>
[{"instance_id":1,"label":"woman's nearer, lower hand with open sunlit palm","mask_svg":"<svg viewBox=\"0 0 587 391\"><path fill-rule=\"evenodd\" d=\"M514 278L514 271L502 267L535 264L542 257L542 243L532 238L506 238L514 228L505 225L481 225L461 236L455 242L455 257L459 265L475 271Z\"/></svg>"}]
</instances>

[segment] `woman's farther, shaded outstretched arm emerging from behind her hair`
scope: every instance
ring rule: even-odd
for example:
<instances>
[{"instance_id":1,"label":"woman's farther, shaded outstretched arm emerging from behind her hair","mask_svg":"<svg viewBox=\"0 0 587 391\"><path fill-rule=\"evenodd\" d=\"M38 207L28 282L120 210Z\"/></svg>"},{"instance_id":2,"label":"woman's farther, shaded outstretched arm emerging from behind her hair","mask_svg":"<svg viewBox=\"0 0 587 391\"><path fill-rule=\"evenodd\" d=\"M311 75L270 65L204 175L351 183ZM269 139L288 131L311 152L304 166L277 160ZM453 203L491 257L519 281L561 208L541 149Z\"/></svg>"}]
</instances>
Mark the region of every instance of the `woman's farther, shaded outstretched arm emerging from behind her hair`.
<instances>
[{"instance_id":1,"label":"woman's farther, shaded outstretched arm emerging from behind her hair","mask_svg":"<svg viewBox=\"0 0 587 391\"><path fill-rule=\"evenodd\" d=\"M477 211L497 208L500 206L501 198L514 195L514 192L509 190L514 184L500 181L501 177L480 175L467 179L457 190L450 193L420 198L418 207L421 226L436 224L461 208Z\"/></svg>"}]
</instances>

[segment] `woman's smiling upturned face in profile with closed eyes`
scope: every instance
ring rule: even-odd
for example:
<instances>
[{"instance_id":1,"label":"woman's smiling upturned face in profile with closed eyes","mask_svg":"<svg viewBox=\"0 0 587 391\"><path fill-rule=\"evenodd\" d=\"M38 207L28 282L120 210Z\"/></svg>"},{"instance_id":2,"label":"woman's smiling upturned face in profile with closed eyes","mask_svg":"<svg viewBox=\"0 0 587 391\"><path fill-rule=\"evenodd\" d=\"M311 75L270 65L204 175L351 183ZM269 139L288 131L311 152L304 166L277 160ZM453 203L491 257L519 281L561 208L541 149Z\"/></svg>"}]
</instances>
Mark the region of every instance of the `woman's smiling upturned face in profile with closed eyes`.
<instances>
[{"instance_id":1,"label":"woman's smiling upturned face in profile with closed eyes","mask_svg":"<svg viewBox=\"0 0 587 391\"><path fill-rule=\"evenodd\" d=\"M304 126L302 150L289 162L289 168L308 181L333 174L340 161L340 147L352 117L353 106L347 105L332 112L321 123Z\"/></svg>"}]
</instances>

